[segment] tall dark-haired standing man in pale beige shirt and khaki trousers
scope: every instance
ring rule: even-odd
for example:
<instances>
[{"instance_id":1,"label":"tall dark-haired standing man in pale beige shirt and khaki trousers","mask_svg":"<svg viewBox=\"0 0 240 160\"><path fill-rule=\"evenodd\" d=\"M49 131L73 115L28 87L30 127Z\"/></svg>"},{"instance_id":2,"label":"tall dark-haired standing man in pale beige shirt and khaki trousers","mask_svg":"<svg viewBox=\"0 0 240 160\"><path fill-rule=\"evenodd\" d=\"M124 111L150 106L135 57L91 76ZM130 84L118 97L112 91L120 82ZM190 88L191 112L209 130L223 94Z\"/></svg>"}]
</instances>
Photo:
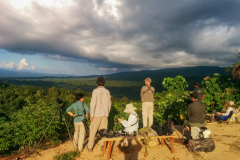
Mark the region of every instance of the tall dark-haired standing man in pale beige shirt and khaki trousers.
<instances>
[{"instance_id":1,"label":"tall dark-haired standing man in pale beige shirt and khaki trousers","mask_svg":"<svg viewBox=\"0 0 240 160\"><path fill-rule=\"evenodd\" d=\"M105 79L97 78L97 88L92 92L90 102L90 135L88 141L88 151L92 152L95 135L98 130L107 129L108 115L111 109L110 92L104 87ZM103 142L100 142L101 149Z\"/></svg>"}]
</instances>

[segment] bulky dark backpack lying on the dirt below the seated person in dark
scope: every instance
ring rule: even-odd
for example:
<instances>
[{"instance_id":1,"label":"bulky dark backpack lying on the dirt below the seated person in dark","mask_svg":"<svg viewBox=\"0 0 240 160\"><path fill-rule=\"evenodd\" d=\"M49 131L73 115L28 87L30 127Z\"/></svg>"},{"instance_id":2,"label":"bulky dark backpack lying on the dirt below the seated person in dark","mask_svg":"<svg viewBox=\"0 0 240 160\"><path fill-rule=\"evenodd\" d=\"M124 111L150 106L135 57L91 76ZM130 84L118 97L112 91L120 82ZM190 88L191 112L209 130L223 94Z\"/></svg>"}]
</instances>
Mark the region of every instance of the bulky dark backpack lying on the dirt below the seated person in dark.
<instances>
[{"instance_id":1,"label":"bulky dark backpack lying on the dirt below the seated person in dark","mask_svg":"<svg viewBox=\"0 0 240 160\"><path fill-rule=\"evenodd\" d=\"M188 150L191 152L211 152L215 149L215 143L212 138L190 139L187 146Z\"/></svg>"}]
</instances>

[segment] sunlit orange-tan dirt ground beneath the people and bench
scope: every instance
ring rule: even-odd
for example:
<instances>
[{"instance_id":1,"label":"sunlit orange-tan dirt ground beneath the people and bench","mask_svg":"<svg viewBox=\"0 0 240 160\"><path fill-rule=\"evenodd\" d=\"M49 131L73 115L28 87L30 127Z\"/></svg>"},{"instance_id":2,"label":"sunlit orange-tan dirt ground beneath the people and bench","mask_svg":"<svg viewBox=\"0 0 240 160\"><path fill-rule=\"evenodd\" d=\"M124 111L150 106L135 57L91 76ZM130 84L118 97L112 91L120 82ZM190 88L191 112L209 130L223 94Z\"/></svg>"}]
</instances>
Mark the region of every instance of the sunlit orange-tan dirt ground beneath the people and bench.
<instances>
[{"instance_id":1,"label":"sunlit orange-tan dirt ground beneath the people and bench","mask_svg":"<svg viewBox=\"0 0 240 160\"><path fill-rule=\"evenodd\" d=\"M178 138L174 141L174 153L169 149L170 142L165 141L164 146L157 144L149 148L149 154L146 155L145 147L142 142L132 140L132 145L128 149L119 147L119 142L113 144L111 160L240 160L240 124L208 124L207 128L212 132L211 137L215 142L216 148L212 152L189 152L184 145L188 133L182 136L183 126L175 126L174 135ZM94 146L93 152L86 150L88 139L85 140L84 150L76 160L100 160L107 159L107 151L103 154L100 151L100 145ZM157 141L157 140L156 140ZM25 160L52 160L55 155L68 151L73 151L71 141L67 141L55 148L40 151L39 154L30 155ZM108 150L108 148L107 148Z\"/></svg>"}]
</instances>

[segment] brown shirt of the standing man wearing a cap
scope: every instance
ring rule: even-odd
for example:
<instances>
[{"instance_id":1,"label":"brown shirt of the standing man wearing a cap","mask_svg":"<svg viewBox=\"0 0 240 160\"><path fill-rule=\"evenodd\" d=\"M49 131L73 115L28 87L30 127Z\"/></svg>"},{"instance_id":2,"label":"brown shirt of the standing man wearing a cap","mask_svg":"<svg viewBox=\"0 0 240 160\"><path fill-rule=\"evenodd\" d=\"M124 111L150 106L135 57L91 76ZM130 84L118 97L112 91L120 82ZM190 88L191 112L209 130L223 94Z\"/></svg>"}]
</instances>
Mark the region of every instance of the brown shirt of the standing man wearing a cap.
<instances>
[{"instance_id":1,"label":"brown shirt of the standing man wearing a cap","mask_svg":"<svg viewBox=\"0 0 240 160\"><path fill-rule=\"evenodd\" d=\"M143 86L140 92L142 102L154 102L155 88L152 86Z\"/></svg>"}]
</instances>

